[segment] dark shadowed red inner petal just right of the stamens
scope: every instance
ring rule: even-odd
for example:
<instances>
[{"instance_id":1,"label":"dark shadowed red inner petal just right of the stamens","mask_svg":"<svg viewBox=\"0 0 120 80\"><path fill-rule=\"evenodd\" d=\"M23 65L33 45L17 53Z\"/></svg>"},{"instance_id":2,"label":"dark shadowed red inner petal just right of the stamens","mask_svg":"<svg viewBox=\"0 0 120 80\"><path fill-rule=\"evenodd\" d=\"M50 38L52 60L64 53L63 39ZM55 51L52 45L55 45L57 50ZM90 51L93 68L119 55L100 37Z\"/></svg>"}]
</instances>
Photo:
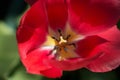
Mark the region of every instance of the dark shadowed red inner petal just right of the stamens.
<instances>
[{"instance_id":1,"label":"dark shadowed red inner petal just right of the stamens","mask_svg":"<svg viewBox=\"0 0 120 80\"><path fill-rule=\"evenodd\" d=\"M83 40L80 40L76 43L76 53L79 54L81 57L89 57L95 54L91 54L92 50L99 46L100 44L103 44L107 42L107 40L98 37L98 36L88 36Z\"/></svg>"}]
</instances>

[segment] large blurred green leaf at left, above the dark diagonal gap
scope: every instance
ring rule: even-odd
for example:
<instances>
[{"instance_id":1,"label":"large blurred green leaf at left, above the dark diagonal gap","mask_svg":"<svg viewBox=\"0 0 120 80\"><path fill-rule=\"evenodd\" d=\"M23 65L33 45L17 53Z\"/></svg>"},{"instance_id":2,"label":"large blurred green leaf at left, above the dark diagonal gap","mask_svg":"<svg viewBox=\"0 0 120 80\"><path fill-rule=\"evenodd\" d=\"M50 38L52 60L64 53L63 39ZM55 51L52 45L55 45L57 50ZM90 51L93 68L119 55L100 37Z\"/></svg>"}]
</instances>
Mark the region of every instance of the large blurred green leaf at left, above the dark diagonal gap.
<instances>
[{"instance_id":1,"label":"large blurred green leaf at left, above the dark diagonal gap","mask_svg":"<svg viewBox=\"0 0 120 80\"><path fill-rule=\"evenodd\" d=\"M0 76L6 76L18 61L16 34L8 25L0 22Z\"/></svg>"}]
</instances>

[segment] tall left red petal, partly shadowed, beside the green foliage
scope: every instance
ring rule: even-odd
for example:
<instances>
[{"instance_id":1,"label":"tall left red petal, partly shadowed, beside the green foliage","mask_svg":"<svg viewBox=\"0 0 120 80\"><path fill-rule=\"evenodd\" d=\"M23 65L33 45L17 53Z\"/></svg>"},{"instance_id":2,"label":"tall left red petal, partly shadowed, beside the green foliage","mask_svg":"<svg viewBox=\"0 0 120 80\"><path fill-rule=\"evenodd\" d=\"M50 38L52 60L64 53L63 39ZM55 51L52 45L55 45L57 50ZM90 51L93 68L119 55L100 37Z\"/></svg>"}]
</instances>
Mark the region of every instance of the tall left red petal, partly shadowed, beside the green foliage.
<instances>
[{"instance_id":1,"label":"tall left red petal, partly shadowed, beside the green foliage","mask_svg":"<svg viewBox=\"0 0 120 80\"><path fill-rule=\"evenodd\" d=\"M22 17L17 30L17 41L21 58L25 58L30 50L39 47L46 39L47 21L44 7L36 2Z\"/></svg>"}]
</instances>

